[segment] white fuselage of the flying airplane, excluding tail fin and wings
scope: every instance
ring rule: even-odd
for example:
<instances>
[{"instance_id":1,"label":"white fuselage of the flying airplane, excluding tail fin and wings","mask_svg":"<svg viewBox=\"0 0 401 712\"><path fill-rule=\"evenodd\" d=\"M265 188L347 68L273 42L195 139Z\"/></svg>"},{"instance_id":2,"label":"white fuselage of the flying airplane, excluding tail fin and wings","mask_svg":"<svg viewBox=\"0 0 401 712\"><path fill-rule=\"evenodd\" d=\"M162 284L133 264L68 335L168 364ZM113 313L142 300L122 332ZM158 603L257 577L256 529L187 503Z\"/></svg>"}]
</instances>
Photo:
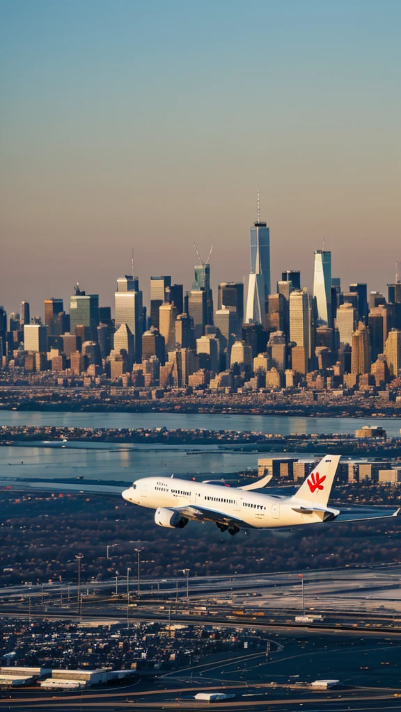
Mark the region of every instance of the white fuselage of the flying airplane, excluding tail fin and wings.
<instances>
[{"instance_id":1,"label":"white fuselage of the flying airplane, excluding tail fin and wings","mask_svg":"<svg viewBox=\"0 0 401 712\"><path fill-rule=\"evenodd\" d=\"M338 514L337 510L328 507L321 508L321 511L310 511L310 502L295 497L271 496L175 477L138 479L123 492L123 498L141 507L155 510L163 508L172 513L178 508L201 508L205 520L216 520L215 513L223 513L227 518L242 520L249 528L312 524L328 517L334 518ZM303 507L305 511L295 511L297 507Z\"/></svg>"}]
</instances>

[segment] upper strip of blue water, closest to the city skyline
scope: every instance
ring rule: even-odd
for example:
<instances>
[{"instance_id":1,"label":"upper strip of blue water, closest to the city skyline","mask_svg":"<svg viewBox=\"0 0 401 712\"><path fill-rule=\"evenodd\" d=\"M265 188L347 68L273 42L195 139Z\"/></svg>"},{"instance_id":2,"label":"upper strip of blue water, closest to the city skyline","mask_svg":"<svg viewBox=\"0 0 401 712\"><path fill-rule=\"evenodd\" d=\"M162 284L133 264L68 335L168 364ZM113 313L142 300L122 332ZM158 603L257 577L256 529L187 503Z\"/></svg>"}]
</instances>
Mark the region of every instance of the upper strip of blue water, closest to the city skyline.
<instances>
[{"instance_id":1,"label":"upper strip of blue water, closest to the city skyline","mask_svg":"<svg viewBox=\"0 0 401 712\"><path fill-rule=\"evenodd\" d=\"M239 430L281 435L355 433L374 423L387 434L400 435L401 418L302 418L275 415L210 413L66 413L0 410L0 425L66 426L81 428L182 428Z\"/></svg>"}]
</instances>

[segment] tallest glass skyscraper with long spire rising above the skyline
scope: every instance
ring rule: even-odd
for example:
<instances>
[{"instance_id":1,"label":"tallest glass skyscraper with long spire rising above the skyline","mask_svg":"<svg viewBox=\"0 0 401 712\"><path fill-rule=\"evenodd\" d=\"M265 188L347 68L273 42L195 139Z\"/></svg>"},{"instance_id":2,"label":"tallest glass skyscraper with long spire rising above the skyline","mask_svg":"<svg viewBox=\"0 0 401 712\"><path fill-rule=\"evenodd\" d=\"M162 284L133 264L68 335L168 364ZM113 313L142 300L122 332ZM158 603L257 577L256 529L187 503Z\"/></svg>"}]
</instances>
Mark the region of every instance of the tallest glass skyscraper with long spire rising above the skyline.
<instances>
[{"instance_id":1,"label":"tallest glass skyscraper with long spire rising above the skyline","mask_svg":"<svg viewBox=\"0 0 401 712\"><path fill-rule=\"evenodd\" d=\"M250 276L245 321L263 324L265 303L270 294L270 228L260 220L258 189L258 220L250 228Z\"/></svg>"}]
</instances>

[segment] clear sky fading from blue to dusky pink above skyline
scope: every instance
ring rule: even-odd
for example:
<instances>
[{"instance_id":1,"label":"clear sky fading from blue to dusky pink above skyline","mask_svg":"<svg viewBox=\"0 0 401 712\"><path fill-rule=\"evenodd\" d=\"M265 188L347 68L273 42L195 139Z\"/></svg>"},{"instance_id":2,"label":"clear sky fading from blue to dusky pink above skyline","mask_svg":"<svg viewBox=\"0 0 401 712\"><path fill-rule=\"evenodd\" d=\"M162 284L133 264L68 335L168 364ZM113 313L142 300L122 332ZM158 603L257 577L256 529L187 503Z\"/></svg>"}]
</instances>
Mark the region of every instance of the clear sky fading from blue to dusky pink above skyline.
<instances>
[{"instance_id":1,"label":"clear sky fading from blue to dusky pink above skyline","mask_svg":"<svg viewBox=\"0 0 401 712\"><path fill-rule=\"evenodd\" d=\"M311 287L323 236L344 288L394 281L399 0L1 0L0 28L7 310L76 273L113 304L131 245L146 300L191 287L194 241L246 277L258 184L273 284Z\"/></svg>"}]
</instances>

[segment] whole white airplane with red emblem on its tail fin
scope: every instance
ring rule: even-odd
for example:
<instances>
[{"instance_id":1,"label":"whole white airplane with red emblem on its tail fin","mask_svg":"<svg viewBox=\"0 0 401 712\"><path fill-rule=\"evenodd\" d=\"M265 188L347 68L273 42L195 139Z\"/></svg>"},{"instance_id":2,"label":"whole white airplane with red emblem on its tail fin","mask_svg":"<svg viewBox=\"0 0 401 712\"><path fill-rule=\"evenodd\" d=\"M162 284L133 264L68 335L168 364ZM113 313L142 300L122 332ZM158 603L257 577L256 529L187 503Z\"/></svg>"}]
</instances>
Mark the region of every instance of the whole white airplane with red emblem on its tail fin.
<instances>
[{"instance_id":1,"label":"whole white airplane with red emblem on its tail fin","mask_svg":"<svg viewBox=\"0 0 401 712\"><path fill-rule=\"evenodd\" d=\"M145 477L136 480L122 496L127 502L155 509L156 524L168 528L182 529L189 520L211 521L221 532L235 535L241 529L247 533L249 529L331 522L340 515L340 510L328 507L339 461L340 455L326 455L293 496L258 492L271 475L242 487L174 476Z\"/></svg>"}]
</instances>

